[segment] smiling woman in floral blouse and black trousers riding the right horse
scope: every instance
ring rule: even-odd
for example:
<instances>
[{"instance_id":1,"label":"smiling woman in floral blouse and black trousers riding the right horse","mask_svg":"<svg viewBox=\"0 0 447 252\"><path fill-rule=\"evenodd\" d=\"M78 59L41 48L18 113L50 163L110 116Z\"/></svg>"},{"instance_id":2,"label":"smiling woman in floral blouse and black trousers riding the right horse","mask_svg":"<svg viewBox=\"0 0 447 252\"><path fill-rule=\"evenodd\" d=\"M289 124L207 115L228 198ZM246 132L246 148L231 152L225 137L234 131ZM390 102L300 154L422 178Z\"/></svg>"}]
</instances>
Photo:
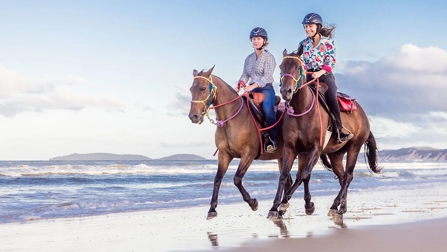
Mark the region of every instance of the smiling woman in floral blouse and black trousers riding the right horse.
<instances>
[{"instance_id":1,"label":"smiling woman in floral blouse and black trousers riding the right horse","mask_svg":"<svg viewBox=\"0 0 447 252\"><path fill-rule=\"evenodd\" d=\"M332 68L335 66L335 46L332 39L335 26L323 26L322 18L316 13L307 14L302 24L308 37L299 43L298 49L301 45L303 46L301 60L304 61L306 72L308 72L306 79L312 80L319 77L321 82L328 85L329 89L325 93L326 102L336 117L338 139L340 142L346 142L354 135L342 132L337 85L332 74Z\"/></svg>"}]
</instances>

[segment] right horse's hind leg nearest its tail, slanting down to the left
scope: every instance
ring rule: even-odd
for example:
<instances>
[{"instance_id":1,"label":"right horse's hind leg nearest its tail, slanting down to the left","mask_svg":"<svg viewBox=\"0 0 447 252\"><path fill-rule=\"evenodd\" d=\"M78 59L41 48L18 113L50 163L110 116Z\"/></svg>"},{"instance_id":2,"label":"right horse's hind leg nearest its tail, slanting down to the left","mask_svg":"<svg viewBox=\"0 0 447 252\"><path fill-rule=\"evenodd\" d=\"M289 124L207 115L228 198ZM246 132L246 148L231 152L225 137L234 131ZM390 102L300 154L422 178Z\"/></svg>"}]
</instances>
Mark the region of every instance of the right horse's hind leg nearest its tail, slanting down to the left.
<instances>
[{"instance_id":1,"label":"right horse's hind leg nearest its tail, slanting down to the left","mask_svg":"<svg viewBox=\"0 0 447 252\"><path fill-rule=\"evenodd\" d=\"M351 144L350 147L348 148L348 155L346 157L346 171L345 174L343 175L342 188L340 189L340 192L338 192L337 197L334 199L331 209L329 209L328 216L333 216L335 218L343 218L343 214L346 213L348 187L352 179L354 178L353 176L354 168L361 147L362 145L354 146L353 144ZM340 210L337 210L339 205Z\"/></svg>"}]
</instances>

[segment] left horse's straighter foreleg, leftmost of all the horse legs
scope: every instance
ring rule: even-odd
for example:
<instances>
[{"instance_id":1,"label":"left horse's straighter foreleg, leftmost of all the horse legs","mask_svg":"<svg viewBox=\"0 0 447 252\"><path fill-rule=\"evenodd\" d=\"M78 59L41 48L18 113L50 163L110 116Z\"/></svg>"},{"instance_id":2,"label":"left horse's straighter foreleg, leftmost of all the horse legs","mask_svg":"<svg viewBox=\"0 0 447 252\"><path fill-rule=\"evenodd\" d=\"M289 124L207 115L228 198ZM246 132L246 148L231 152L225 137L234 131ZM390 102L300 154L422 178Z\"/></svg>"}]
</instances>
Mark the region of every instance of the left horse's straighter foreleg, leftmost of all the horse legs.
<instances>
[{"instance_id":1,"label":"left horse's straighter foreleg, leftmost of all the horse legs","mask_svg":"<svg viewBox=\"0 0 447 252\"><path fill-rule=\"evenodd\" d=\"M219 150L218 155L218 164L217 164L217 172L214 178L214 188L213 188L213 196L211 197L211 207L208 211L207 220L212 219L217 216L216 207L217 207L217 197L219 196L219 188L222 183L223 176L227 172L228 166L230 162L233 160L233 157L228 153Z\"/></svg>"}]
</instances>

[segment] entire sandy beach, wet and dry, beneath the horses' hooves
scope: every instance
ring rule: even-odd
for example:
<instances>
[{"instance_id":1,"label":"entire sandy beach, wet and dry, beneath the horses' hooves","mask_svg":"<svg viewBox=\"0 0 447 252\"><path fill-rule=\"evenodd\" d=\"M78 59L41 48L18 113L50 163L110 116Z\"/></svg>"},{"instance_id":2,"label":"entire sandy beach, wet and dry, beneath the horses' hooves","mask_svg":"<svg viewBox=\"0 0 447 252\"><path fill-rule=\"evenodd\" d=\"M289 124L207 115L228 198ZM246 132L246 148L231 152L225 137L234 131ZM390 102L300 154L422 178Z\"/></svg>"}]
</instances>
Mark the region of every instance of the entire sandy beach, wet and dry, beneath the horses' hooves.
<instances>
[{"instance_id":1,"label":"entire sandy beach, wet and dry, beneath the horses' hooves","mask_svg":"<svg viewBox=\"0 0 447 252\"><path fill-rule=\"evenodd\" d=\"M304 214L301 197L298 193L291 200L283 220L266 219L271 201L260 201L256 212L245 203L221 204L212 220L205 219L208 206L200 206L4 223L0 248L4 252L271 251L300 246L319 251L344 246L346 251L383 251L393 250L392 246L420 248L413 247L415 243L430 251L445 251L446 240L440 239L446 236L447 223L443 184L349 193L341 225L326 216L333 196L314 197L312 216Z\"/></svg>"}]
</instances>

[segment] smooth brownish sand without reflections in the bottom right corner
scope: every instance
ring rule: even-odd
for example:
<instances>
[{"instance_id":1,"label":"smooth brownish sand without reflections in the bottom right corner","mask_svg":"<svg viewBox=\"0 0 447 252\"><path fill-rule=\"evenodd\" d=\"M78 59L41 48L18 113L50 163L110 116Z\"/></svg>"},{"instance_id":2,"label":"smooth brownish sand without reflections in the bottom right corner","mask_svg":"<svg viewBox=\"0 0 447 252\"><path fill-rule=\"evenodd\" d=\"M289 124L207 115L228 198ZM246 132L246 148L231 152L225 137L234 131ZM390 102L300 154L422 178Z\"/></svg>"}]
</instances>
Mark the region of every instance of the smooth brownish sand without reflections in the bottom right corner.
<instances>
[{"instance_id":1,"label":"smooth brownish sand without reflections in the bottom right corner","mask_svg":"<svg viewBox=\"0 0 447 252\"><path fill-rule=\"evenodd\" d=\"M308 251L378 252L447 251L447 218L400 225L338 229L329 235L307 238L270 239L241 244L223 252Z\"/></svg>"}]
</instances>

